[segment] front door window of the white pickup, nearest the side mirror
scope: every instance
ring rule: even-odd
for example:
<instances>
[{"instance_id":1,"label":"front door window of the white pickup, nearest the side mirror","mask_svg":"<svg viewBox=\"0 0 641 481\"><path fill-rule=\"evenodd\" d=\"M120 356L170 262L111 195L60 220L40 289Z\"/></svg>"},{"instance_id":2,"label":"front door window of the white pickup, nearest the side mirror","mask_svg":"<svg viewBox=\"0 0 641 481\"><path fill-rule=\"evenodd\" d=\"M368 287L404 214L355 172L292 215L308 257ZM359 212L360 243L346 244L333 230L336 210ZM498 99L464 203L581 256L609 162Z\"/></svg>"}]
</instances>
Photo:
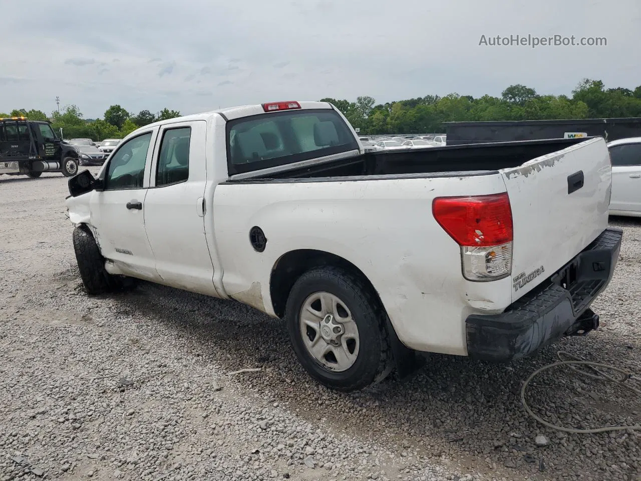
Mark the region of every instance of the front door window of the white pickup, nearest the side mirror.
<instances>
[{"instance_id":1,"label":"front door window of the white pickup, nearest the side mirror","mask_svg":"<svg viewBox=\"0 0 641 481\"><path fill-rule=\"evenodd\" d=\"M104 178L104 190L142 189L151 132L122 144L112 156Z\"/></svg>"}]
</instances>

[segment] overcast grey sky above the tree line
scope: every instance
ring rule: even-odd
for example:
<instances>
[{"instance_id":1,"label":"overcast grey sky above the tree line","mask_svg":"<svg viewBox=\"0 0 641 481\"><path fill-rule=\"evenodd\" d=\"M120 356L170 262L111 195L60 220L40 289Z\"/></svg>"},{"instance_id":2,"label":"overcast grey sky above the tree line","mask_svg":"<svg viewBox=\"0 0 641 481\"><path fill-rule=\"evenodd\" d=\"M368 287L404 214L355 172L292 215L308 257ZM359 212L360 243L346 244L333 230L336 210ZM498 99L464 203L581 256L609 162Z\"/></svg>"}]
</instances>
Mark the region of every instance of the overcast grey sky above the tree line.
<instances>
[{"instance_id":1,"label":"overcast grey sky above the tree line","mask_svg":"<svg viewBox=\"0 0 641 481\"><path fill-rule=\"evenodd\" d=\"M641 85L639 0L0 0L0 112L54 98L183 114L274 100L522 83L570 94L588 77ZM607 46L479 46L481 35L606 37Z\"/></svg>"}]
</instances>

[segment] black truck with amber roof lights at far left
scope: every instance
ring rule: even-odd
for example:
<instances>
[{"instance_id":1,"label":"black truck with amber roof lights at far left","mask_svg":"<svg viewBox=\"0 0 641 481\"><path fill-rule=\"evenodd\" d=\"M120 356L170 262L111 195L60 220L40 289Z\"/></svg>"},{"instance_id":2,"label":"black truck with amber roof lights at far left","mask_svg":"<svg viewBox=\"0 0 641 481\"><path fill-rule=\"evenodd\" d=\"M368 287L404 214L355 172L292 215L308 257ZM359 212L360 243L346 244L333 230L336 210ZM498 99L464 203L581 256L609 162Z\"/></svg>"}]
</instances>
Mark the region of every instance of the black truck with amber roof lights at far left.
<instances>
[{"instance_id":1,"label":"black truck with amber roof lights at far left","mask_svg":"<svg viewBox=\"0 0 641 481\"><path fill-rule=\"evenodd\" d=\"M78 151L59 139L51 124L24 117L0 119L0 174L78 173Z\"/></svg>"}]
</instances>

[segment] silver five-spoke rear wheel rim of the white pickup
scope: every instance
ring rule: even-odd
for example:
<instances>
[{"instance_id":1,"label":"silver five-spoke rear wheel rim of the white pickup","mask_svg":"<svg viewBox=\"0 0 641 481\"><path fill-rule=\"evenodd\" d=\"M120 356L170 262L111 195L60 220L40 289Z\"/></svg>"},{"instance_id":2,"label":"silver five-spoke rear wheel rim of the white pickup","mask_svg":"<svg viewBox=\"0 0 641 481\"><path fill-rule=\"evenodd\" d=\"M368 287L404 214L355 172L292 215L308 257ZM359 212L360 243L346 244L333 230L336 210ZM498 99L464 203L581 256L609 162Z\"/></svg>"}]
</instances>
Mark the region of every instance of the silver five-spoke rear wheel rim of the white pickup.
<instances>
[{"instance_id":1,"label":"silver five-spoke rear wheel rim of the white pickup","mask_svg":"<svg viewBox=\"0 0 641 481\"><path fill-rule=\"evenodd\" d=\"M360 337L344 301L329 292L314 292L303 302L299 323L304 346L324 369L340 373L354 365Z\"/></svg>"}]
</instances>

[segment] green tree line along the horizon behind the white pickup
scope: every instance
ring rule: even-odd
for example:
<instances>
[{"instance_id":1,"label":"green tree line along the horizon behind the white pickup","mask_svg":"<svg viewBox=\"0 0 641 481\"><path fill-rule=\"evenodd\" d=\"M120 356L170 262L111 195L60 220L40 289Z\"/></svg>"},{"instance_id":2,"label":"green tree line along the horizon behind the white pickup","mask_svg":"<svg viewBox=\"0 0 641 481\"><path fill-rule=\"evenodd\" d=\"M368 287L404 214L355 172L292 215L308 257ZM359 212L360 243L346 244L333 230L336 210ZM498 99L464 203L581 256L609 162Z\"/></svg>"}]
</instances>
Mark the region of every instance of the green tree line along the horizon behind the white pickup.
<instances>
[{"instance_id":1,"label":"green tree line along the horizon behind the white pickup","mask_svg":"<svg viewBox=\"0 0 641 481\"><path fill-rule=\"evenodd\" d=\"M362 135L442 132L442 122L456 121L641 117L641 85L634 90L606 89L603 81L587 78L572 90L572 97L539 95L535 89L519 84L503 90L501 97L428 95L378 105L372 97L358 97L355 102L329 97L321 100L337 106ZM56 131L62 127L67 139L103 140L122 138L151 122L179 117L180 112L163 108L157 114L141 110L133 115L120 105L112 105L103 119L86 120L78 106L68 105L49 117L40 110L24 109L0 117L20 115L31 120L49 119Z\"/></svg>"}]
</instances>

